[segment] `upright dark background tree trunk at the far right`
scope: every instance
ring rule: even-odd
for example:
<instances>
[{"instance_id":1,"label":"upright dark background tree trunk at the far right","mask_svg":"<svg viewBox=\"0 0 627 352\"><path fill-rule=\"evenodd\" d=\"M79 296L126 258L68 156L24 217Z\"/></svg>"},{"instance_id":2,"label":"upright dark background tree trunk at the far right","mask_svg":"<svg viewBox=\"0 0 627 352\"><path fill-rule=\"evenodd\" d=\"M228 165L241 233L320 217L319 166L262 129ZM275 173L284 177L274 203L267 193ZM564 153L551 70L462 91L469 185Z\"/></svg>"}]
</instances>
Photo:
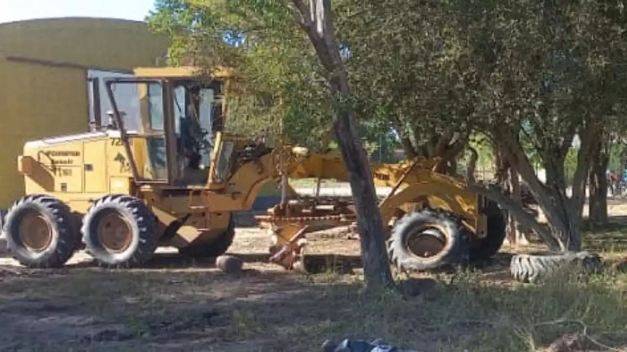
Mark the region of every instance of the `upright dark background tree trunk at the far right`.
<instances>
[{"instance_id":1,"label":"upright dark background tree trunk at the far right","mask_svg":"<svg viewBox=\"0 0 627 352\"><path fill-rule=\"evenodd\" d=\"M591 227L608 223L608 170L609 156L604 153L601 142L595 145L589 173L590 200L588 215Z\"/></svg>"}]
</instances>

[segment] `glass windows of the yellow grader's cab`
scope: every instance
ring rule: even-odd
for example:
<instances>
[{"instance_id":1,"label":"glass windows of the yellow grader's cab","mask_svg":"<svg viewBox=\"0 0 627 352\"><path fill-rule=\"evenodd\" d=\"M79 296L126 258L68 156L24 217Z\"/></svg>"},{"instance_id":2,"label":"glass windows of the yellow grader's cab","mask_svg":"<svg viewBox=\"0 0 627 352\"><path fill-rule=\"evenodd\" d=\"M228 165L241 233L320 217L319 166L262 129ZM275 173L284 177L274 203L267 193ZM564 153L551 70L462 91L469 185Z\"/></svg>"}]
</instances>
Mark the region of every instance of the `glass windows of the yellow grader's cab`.
<instances>
[{"instance_id":1,"label":"glass windows of the yellow grader's cab","mask_svg":"<svg viewBox=\"0 0 627 352\"><path fill-rule=\"evenodd\" d=\"M206 184L215 133L222 124L221 86L220 81L192 80L112 85L125 130L136 131L145 140L142 178L168 181L172 175L176 184ZM167 118L174 120L171 162L166 148Z\"/></svg>"}]
</instances>

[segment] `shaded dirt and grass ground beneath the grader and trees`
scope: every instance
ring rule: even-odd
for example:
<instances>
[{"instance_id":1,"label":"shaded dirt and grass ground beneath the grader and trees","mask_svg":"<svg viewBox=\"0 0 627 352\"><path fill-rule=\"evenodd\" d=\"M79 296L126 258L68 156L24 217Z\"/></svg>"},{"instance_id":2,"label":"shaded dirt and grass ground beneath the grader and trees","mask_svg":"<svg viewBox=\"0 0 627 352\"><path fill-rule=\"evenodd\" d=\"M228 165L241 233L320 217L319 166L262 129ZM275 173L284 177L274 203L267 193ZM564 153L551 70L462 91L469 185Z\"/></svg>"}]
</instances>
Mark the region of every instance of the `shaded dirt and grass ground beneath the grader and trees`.
<instances>
[{"instance_id":1,"label":"shaded dirt and grass ground beneath the grader and trees","mask_svg":"<svg viewBox=\"0 0 627 352\"><path fill-rule=\"evenodd\" d=\"M618 222L589 234L587 247L616 259L627 256L627 202L611 213ZM359 241L310 238L311 253L342 265L309 276L263 262L267 247L265 232L238 228L229 252L245 260L242 274L167 249L149 267L123 271L98 269L82 253L64 269L29 271L3 254L0 350L320 351L327 338L350 337L418 351L532 351L576 332L597 350L626 350L626 274L517 284L507 268L514 250L504 247L485 267L416 275L433 279L418 297L368 296L359 291Z\"/></svg>"}]
</instances>

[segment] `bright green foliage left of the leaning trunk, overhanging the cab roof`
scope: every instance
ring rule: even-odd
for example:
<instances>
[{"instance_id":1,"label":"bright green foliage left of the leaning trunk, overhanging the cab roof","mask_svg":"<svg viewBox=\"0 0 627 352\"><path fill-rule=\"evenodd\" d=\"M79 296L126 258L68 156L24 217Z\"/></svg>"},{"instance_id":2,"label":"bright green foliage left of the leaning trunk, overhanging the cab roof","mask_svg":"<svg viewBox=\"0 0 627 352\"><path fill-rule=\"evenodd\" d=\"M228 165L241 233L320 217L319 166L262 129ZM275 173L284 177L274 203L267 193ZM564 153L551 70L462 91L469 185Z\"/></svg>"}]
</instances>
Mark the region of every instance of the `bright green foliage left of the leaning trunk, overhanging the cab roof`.
<instances>
[{"instance_id":1,"label":"bright green foliage left of the leaning trunk, overhanging the cab roof","mask_svg":"<svg viewBox=\"0 0 627 352\"><path fill-rule=\"evenodd\" d=\"M148 23L173 39L172 63L226 66L245 78L229 91L236 101L230 128L285 132L287 142L320 149L330 122L324 80L307 38L285 10L275 1L159 0Z\"/></svg>"}]
</instances>

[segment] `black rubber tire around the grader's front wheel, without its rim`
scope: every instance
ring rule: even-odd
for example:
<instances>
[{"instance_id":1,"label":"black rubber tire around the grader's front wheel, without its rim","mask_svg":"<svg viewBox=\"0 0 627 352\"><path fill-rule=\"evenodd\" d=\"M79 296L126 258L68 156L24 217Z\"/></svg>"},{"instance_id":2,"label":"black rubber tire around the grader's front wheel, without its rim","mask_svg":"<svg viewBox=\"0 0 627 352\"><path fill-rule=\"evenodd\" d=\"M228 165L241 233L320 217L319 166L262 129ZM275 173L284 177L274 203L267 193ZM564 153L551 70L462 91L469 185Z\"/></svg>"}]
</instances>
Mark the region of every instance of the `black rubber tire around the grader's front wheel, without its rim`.
<instances>
[{"instance_id":1,"label":"black rubber tire around the grader's front wheel, without its rim","mask_svg":"<svg viewBox=\"0 0 627 352\"><path fill-rule=\"evenodd\" d=\"M419 257L406 248L412 229L426 224L438 224L445 229L444 249L432 257ZM386 241L390 260L401 271L427 271L445 266L456 266L468 261L469 233L458 215L448 210L426 208L404 215ZM431 233L430 236L434 236ZM439 237L439 236L438 236ZM441 238L441 237L440 237Z\"/></svg>"}]
</instances>

